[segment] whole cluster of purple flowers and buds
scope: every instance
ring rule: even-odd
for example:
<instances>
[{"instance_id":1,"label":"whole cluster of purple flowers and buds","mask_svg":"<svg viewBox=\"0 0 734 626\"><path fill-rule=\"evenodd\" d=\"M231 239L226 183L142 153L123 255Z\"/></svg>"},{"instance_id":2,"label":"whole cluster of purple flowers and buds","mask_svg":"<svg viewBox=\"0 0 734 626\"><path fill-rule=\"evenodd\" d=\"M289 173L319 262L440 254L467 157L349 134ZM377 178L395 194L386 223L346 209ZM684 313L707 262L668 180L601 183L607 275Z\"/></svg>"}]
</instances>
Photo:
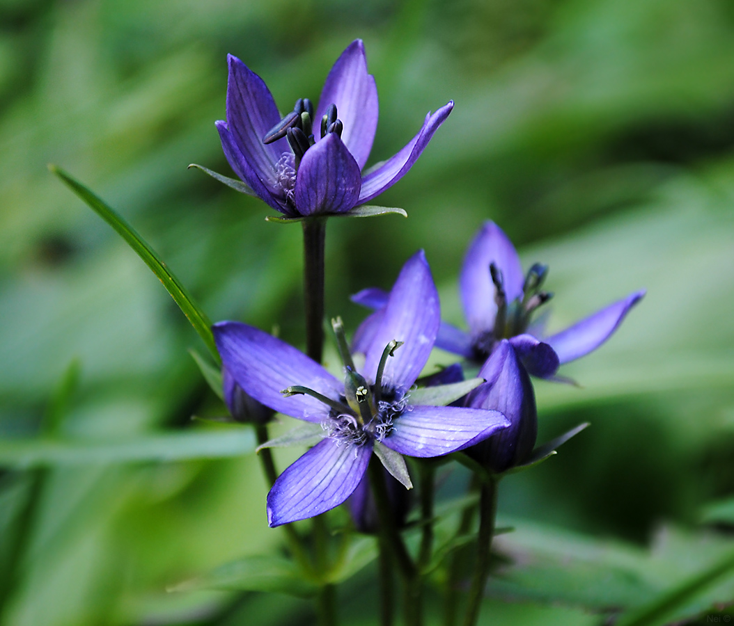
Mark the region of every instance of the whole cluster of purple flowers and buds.
<instances>
[{"instance_id":1,"label":"whole cluster of purple flowers and buds","mask_svg":"<svg viewBox=\"0 0 734 626\"><path fill-rule=\"evenodd\" d=\"M318 106L299 98L285 116L257 74L234 56L228 62L227 119L217 122L217 129L241 183L209 173L306 224L356 213L356 207L396 183L453 108L449 102L428 114L404 148L363 173L378 105L361 41L335 62ZM323 251L306 250L307 268L322 267L323 258L312 254ZM315 424L320 433L315 445L275 479L267 498L270 526L319 515L354 494L357 526L374 527L374 512L366 504L373 453L396 479L390 482L393 490L398 482L412 487L404 456L465 451L494 475L527 463L537 438L531 376L563 380L556 377L559 366L605 342L644 295L635 292L545 336L533 316L551 299L543 290L547 275L548 267L540 264L524 273L512 243L487 222L470 243L459 276L468 325L463 331L440 320L437 290L419 251L390 292L371 288L352 298L374 312L355 332L351 348L341 325L335 325L341 377L258 328L214 325L233 415L264 424L272 410ZM434 380L421 380L421 388L416 381L434 347L462 361ZM459 382L464 369L479 378Z\"/></svg>"}]
</instances>

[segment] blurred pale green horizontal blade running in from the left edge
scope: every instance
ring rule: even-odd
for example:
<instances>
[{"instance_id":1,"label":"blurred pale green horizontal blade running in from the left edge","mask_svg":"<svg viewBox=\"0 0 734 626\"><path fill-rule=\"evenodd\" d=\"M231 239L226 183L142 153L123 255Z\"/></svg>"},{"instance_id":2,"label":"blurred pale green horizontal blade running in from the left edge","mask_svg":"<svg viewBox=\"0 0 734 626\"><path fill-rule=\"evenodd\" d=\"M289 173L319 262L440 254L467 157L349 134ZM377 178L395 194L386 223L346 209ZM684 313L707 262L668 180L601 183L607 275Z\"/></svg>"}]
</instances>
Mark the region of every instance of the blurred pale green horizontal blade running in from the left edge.
<instances>
[{"instance_id":1,"label":"blurred pale green horizontal blade running in from the left edge","mask_svg":"<svg viewBox=\"0 0 734 626\"><path fill-rule=\"evenodd\" d=\"M0 466L138 463L239 457L255 450L252 430L167 432L112 441L51 438L0 439Z\"/></svg>"}]
</instances>

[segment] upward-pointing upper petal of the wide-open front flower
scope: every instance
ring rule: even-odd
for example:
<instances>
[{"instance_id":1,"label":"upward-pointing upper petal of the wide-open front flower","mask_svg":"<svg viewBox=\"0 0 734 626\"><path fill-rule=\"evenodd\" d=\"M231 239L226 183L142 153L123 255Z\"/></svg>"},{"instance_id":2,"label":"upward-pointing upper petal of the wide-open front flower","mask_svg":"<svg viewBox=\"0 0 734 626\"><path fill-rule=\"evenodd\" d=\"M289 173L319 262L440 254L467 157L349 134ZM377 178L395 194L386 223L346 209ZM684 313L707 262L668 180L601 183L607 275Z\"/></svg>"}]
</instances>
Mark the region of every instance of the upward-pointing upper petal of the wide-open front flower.
<instances>
[{"instance_id":1,"label":"upward-pointing upper petal of the wide-open front flower","mask_svg":"<svg viewBox=\"0 0 734 626\"><path fill-rule=\"evenodd\" d=\"M416 252L400 270L384 309L382 324L367 347L365 369L373 378L385 346L393 339L404 342L388 357L382 380L407 389L421 373L433 348L440 323L440 304L424 251Z\"/></svg>"}]
</instances>

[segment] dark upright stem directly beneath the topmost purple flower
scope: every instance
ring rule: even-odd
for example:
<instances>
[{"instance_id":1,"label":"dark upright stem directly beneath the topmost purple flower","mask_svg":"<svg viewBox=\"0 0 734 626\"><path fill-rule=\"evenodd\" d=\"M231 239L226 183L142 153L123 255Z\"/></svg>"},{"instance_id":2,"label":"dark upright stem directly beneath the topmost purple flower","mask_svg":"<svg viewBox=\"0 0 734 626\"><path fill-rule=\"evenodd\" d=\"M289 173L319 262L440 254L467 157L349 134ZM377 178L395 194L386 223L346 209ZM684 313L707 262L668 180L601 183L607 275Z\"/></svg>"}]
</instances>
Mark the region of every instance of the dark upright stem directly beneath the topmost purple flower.
<instances>
[{"instance_id":1,"label":"dark upright stem directly beneath the topmost purple flower","mask_svg":"<svg viewBox=\"0 0 734 626\"><path fill-rule=\"evenodd\" d=\"M321 363L324 350L324 246L326 218L303 222L303 296L306 308L306 353Z\"/></svg>"}]
</instances>

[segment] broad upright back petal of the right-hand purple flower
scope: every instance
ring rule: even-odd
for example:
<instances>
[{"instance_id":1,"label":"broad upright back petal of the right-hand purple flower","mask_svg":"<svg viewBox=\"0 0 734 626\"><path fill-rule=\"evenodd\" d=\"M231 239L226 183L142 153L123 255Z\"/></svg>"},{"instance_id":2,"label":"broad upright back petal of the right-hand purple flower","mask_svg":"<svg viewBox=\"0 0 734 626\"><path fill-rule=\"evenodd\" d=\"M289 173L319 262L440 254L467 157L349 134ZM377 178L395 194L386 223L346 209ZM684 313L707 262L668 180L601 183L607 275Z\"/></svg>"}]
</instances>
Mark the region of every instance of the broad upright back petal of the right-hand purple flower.
<instances>
[{"instance_id":1,"label":"broad upright back petal of the right-hand purple flower","mask_svg":"<svg viewBox=\"0 0 734 626\"><path fill-rule=\"evenodd\" d=\"M525 279L515 246L497 224L487 221L472 240L459 276L464 314L472 334L491 331L495 323L497 305L490 263L502 271L508 303L522 297Z\"/></svg>"}]
</instances>

